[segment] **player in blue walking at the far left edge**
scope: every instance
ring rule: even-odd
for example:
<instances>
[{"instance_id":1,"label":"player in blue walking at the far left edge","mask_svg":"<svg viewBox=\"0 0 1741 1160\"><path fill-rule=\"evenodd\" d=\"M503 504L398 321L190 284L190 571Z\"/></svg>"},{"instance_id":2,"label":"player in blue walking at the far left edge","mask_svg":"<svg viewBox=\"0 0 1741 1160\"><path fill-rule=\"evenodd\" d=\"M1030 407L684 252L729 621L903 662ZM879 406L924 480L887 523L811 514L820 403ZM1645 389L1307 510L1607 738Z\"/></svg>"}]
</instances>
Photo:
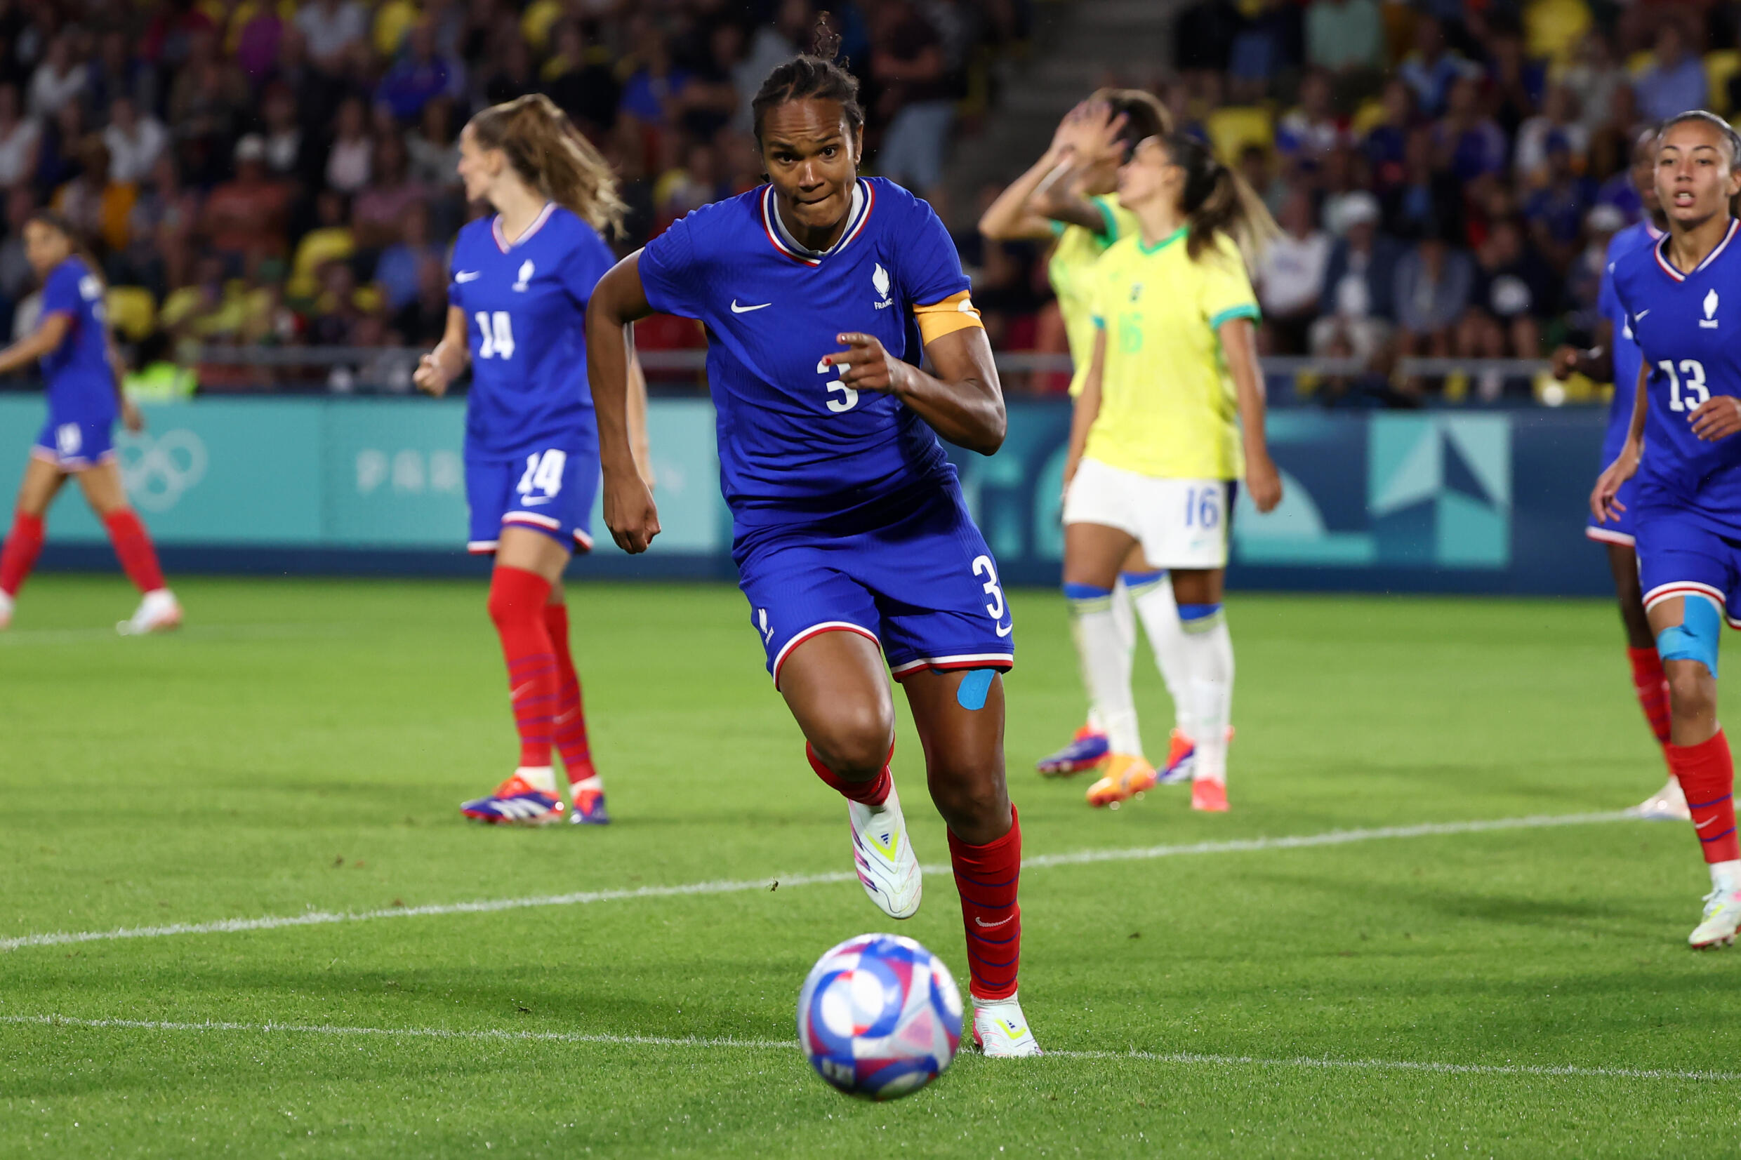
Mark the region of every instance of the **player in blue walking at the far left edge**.
<instances>
[{"instance_id":1,"label":"player in blue walking at the far left edge","mask_svg":"<svg viewBox=\"0 0 1741 1160\"><path fill-rule=\"evenodd\" d=\"M0 550L0 630L12 621L17 590L42 553L49 504L68 477L78 477L85 503L103 520L127 579L143 597L139 609L117 630L136 635L176 628L181 605L164 586L157 550L127 504L115 463L115 421L122 419L129 431L145 430L145 421L120 391L120 360L103 310L103 278L96 263L80 252L66 219L49 210L31 214L24 224L24 257L42 278L42 320L30 337L0 351L0 374L40 360L49 423L31 447L12 532Z\"/></svg>"}]
</instances>

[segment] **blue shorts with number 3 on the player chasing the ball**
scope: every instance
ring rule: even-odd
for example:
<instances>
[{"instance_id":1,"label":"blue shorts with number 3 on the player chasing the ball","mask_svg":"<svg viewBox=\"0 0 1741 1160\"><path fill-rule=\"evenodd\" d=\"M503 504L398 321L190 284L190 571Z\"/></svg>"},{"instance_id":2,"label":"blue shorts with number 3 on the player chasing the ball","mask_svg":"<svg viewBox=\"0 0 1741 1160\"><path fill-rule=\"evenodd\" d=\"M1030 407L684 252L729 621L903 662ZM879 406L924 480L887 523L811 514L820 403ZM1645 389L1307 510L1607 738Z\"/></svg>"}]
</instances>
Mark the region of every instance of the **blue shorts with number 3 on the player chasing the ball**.
<instances>
[{"instance_id":1,"label":"blue shorts with number 3 on the player chasing the ball","mask_svg":"<svg viewBox=\"0 0 1741 1160\"><path fill-rule=\"evenodd\" d=\"M776 689L792 649L827 631L877 642L895 680L1015 664L998 563L961 490L940 485L891 506L902 515L877 527L757 527L733 546Z\"/></svg>"}]
</instances>

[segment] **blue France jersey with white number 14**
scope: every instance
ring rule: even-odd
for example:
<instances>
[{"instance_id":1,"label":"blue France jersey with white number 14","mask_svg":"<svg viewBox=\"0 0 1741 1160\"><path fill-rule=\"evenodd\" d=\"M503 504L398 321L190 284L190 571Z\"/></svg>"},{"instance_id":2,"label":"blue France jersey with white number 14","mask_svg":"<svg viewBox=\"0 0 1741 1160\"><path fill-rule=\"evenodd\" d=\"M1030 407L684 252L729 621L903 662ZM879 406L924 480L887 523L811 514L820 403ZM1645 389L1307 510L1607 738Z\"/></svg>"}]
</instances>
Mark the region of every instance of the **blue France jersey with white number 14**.
<instances>
[{"instance_id":1,"label":"blue France jersey with white number 14","mask_svg":"<svg viewBox=\"0 0 1741 1160\"><path fill-rule=\"evenodd\" d=\"M465 311L472 350L467 459L597 447L587 299L613 261L597 230L561 205L545 205L514 245L494 217L460 230L447 301Z\"/></svg>"}]
</instances>

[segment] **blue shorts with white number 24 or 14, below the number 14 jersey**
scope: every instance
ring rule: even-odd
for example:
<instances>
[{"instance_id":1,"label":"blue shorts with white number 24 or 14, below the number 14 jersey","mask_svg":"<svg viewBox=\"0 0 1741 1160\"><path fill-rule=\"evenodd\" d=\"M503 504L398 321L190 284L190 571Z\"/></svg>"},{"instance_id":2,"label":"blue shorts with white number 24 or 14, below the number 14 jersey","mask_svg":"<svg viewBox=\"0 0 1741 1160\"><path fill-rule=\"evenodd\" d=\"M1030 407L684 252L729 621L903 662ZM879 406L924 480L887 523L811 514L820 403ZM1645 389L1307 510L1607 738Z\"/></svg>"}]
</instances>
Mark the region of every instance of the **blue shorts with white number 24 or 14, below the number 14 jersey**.
<instances>
[{"instance_id":1,"label":"blue shorts with white number 24 or 14, below the number 14 jersey","mask_svg":"<svg viewBox=\"0 0 1741 1160\"><path fill-rule=\"evenodd\" d=\"M592 551L592 501L599 457L543 447L517 459L468 459L465 501L472 510L467 551L489 555L503 527L529 527L571 551Z\"/></svg>"}]
</instances>

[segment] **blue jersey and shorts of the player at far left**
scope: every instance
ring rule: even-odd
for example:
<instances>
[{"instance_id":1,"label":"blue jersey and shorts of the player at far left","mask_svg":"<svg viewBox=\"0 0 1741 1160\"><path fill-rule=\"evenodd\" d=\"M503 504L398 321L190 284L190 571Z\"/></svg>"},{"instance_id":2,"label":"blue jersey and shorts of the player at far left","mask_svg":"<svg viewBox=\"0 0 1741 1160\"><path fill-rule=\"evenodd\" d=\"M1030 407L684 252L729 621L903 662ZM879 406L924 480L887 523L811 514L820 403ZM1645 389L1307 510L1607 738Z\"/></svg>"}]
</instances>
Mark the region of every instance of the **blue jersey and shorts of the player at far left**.
<instances>
[{"instance_id":1,"label":"blue jersey and shorts of the player at far left","mask_svg":"<svg viewBox=\"0 0 1741 1160\"><path fill-rule=\"evenodd\" d=\"M63 315L66 337L42 357L49 421L31 449L63 471L80 471L115 457L115 369L108 358L103 280L77 254L42 283L42 317Z\"/></svg>"}]
</instances>

